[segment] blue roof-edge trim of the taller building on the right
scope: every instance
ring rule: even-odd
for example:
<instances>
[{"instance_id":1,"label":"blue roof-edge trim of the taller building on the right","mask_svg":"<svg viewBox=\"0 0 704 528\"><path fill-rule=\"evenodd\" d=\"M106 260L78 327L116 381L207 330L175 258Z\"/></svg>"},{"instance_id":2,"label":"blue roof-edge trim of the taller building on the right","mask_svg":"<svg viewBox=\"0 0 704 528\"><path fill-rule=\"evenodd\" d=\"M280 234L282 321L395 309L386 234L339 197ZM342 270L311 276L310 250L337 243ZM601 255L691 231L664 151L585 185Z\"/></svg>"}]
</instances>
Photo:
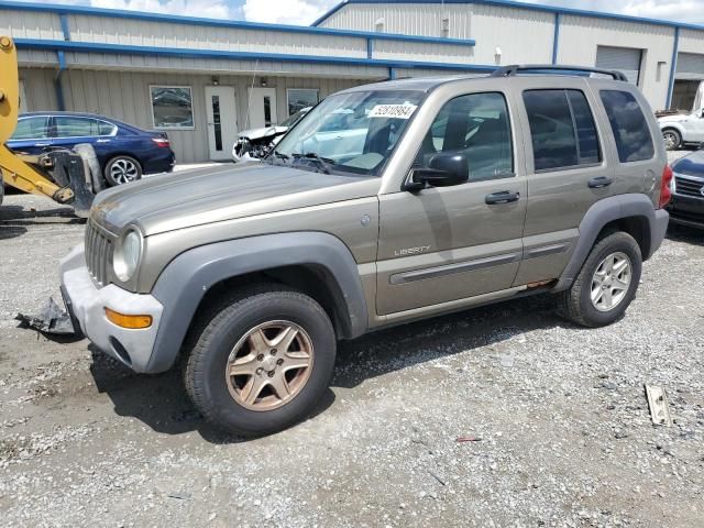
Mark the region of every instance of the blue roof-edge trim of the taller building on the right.
<instances>
[{"instance_id":1,"label":"blue roof-edge trim of the taller building on the right","mask_svg":"<svg viewBox=\"0 0 704 528\"><path fill-rule=\"evenodd\" d=\"M636 24L651 24L651 25L661 25L667 28L680 28L683 30L697 30L704 31L704 25L696 24L684 24L680 22L669 21L669 20L659 20L659 19L648 19L644 16L631 16L627 14L615 14L615 13L606 13L604 11L590 11L586 9L574 9L574 8L560 8L556 6L541 6L539 3L525 3L517 2L515 0L345 0L343 2L338 3L326 14L316 20L312 25L317 26L327 20L332 14L340 11L345 6L351 6L353 3L476 3L483 6L496 6L501 8L516 8L516 9L526 9L529 11L542 11L546 13L559 13L559 14L572 14L575 16L591 16L594 19L607 19L607 20L618 20L622 22L632 22Z\"/></svg>"}]
</instances>

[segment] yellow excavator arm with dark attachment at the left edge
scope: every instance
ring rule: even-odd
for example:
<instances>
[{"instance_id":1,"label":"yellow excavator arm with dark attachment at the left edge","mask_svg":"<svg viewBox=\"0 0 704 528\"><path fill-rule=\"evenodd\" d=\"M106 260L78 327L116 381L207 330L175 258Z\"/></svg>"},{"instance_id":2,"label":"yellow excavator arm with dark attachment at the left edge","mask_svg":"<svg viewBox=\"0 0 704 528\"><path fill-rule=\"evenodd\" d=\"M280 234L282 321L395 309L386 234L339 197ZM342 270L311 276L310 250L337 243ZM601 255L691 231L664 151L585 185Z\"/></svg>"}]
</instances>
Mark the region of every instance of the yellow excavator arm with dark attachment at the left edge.
<instances>
[{"instance_id":1,"label":"yellow excavator arm with dark attachment at the left edge","mask_svg":"<svg viewBox=\"0 0 704 528\"><path fill-rule=\"evenodd\" d=\"M10 151L20 111L18 53L9 36L0 36L0 205L2 184L69 205L86 217L96 193L102 189L96 153L90 145L74 151L53 148L40 155Z\"/></svg>"}]
</instances>

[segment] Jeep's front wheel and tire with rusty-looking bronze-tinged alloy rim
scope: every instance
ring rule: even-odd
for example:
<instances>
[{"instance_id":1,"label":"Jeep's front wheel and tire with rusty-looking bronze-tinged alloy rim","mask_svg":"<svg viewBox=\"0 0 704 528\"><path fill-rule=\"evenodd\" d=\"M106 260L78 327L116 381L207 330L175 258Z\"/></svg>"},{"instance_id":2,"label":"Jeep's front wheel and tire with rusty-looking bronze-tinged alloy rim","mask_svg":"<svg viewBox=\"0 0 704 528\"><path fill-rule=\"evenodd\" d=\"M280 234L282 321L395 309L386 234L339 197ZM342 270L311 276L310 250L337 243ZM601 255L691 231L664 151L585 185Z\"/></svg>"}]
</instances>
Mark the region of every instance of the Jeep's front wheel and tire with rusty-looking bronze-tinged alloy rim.
<instances>
[{"instance_id":1,"label":"Jeep's front wheel and tire with rusty-looking bronze-tinged alloy rim","mask_svg":"<svg viewBox=\"0 0 704 528\"><path fill-rule=\"evenodd\" d=\"M276 350L284 327L295 330L295 338ZM254 350L253 342L266 350ZM332 323L320 305L274 285L222 298L196 322L189 343L184 367L188 396L207 420L245 437L277 432L306 418L330 384L337 348ZM301 359L308 350L309 366L292 366L308 362ZM226 375L231 369L248 374ZM282 397L276 387L290 391L290 396L283 391Z\"/></svg>"}]
</instances>

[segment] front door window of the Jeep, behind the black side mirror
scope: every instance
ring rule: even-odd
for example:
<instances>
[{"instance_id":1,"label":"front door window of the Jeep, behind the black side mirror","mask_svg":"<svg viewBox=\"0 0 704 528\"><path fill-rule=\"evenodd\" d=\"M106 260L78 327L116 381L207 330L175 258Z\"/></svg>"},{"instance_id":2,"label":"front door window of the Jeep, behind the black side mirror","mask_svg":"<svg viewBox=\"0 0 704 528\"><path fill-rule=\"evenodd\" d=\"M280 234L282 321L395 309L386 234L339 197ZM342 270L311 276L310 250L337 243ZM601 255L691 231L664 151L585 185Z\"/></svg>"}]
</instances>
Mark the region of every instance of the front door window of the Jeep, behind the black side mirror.
<instances>
[{"instance_id":1,"label":"front door window of the Jeep, behind the black side mirror","mask_svg":"<svg viewBox=\"0 0 704 528\"><path fill-rule=\"evenodd\" d=\"M510 121L503 94L471 94L448 101L426 134L414 168L429 168L440 152L466 155L469 182L514 176Z\"/></svg>"}]
</instances>

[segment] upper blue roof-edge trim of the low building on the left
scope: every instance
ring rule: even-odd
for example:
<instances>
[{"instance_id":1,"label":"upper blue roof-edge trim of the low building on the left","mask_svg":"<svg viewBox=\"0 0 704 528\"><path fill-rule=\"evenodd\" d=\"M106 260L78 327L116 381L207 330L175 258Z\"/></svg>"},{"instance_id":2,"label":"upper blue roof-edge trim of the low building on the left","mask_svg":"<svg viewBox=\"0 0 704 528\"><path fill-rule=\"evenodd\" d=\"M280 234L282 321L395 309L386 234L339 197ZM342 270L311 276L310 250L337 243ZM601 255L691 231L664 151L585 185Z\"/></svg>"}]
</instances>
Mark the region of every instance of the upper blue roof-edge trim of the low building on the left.
<instances>
[{"instance_id":1,"label":"upper blue roof-edge trim of the low building on the left","mask_svg":"<svg viewBox=\"0 0 704 528\"><path fill-rule=\"evenodd\" d=\"M0 9L15 9L20 11L51 12L56 14L82 14L89 16L109 16L113 19L145 20L148 22L169 22L174 24L208 25L217 28L232 28L235 30L282 31L286 33L304 33L308 35L350 36L359 38L376 38L378 41L419 42L426 44L449 44L458 46L474 46L472 38L444 38L441 36L403 35L400 33L375 33L367 31L333 30L329 28L310 28L307 25L264 24L244 22L241 20L216 20L174 14L143 13L119 9L88 8L85 6L62 6L55 3L32 3L0 0Z\"/></svg>"}]
</instances>

